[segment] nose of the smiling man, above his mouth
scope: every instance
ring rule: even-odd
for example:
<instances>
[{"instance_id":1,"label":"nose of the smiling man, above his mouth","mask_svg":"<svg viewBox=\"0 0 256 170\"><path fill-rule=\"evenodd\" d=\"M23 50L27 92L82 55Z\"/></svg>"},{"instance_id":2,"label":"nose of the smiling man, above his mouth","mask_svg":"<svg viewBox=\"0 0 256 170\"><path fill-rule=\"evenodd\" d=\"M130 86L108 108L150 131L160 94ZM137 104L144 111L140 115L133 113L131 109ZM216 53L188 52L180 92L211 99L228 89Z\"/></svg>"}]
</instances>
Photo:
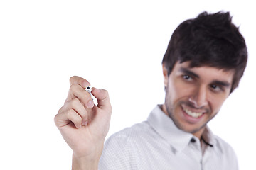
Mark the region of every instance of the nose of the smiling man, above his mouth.
<instances>
[{"instance_id":1,"label":"nose of the smiling man, above his mouth","mask_svg":"<svg viewBox=\"0 0 256 170\"><path fill-rule=\"evenodd\" d=\"M202 108L203 106L206 106L208 103L206 87L198 86L194 91L194 94L188 98L188 101L190 101L195 108Z\"/></svg>"}]
</instances>

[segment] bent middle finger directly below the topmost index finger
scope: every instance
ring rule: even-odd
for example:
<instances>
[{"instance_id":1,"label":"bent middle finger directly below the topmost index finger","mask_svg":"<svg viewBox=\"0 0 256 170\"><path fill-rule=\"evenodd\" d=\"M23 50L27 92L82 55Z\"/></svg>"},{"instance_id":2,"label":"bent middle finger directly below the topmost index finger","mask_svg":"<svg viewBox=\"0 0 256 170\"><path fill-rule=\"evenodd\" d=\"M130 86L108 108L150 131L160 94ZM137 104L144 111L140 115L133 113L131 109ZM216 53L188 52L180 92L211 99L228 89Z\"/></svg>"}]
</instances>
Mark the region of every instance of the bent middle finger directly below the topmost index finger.
<instances>
[{"instance_id":1,"label":"bent middle finger directly below the topmost index finger","mask_svg":"<svg viewBox=\"0 0 256 170\"><path fill-rule=\"evenodd\" d=\"M70 86L67 101L72 101L74 98L78 98L86 108L93 108L94 106L90 93L85 91L79 84L72 84Z\"/></svg>"}]
</instances>

